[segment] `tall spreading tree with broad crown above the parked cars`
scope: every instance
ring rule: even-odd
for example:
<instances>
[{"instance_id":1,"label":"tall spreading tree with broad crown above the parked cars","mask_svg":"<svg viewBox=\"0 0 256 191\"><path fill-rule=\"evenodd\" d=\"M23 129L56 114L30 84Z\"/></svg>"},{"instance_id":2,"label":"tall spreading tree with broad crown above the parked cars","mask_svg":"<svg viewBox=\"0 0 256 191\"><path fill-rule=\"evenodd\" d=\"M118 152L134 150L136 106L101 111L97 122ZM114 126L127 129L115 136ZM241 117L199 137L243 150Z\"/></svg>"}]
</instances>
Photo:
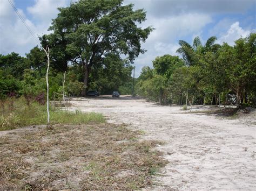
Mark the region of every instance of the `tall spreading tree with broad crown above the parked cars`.
<instances>
[{"instance_id":1,"label":"tall spreading tree with broad crown above the parked cars","mask_svg":"<svg viewBox=\"0 0 256 191\"><path fill-rule=\"evenodd\" d=\"M146 12L133 11L132 4L122 3L123 0L80 0L68 8L59 8L49 28L53 34L41 38L50 48L61 44L59 53L83 66L83 95L92 66L102 65L107 54L125 54L132 61L145 52L140 43L153 29L142 29L136 24L146 20Z\"/></svg>"}]
</instances>

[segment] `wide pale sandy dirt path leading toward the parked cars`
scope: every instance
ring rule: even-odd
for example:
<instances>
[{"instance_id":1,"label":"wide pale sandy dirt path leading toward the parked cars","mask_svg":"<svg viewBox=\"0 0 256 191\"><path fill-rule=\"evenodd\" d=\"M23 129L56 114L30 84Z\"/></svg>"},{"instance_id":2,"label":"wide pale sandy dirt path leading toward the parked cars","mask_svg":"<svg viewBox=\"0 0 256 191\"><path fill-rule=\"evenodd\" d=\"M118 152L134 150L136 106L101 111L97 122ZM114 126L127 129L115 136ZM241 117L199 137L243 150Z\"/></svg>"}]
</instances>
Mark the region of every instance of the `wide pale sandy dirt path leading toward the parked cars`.
<instances>
[{"instance_id":1,"label":"wide pale sandy dirt path leading toward the parked cars","mask_svg":"<svg viewBox=\"0 0 256 191\"><path fill-rule=\"evenodd\" d=\"M111 123L145 131L143 139L165 142L158 149L170 163L156 177L162 186L155 189L256 189L255 110L231 120L129 96L79 98L72 104L72 110L102 112Z\"/></svg>"}]
</instances>

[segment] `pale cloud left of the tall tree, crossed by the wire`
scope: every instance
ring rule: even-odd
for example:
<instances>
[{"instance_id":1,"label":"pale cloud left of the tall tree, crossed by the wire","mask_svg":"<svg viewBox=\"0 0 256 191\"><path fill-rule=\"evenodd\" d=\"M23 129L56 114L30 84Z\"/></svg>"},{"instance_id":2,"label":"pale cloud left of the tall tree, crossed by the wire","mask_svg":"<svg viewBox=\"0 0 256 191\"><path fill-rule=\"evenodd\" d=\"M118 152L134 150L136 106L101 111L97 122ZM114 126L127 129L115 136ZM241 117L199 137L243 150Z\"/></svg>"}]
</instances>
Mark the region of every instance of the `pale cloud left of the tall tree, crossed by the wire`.
<instances>
[{"instance_id":1,"label":"pale cloud left of the tall tree, crossed by the wire","mask_svg":"<svg viewBox=\"0 0 256 191\"><path fill-rule=\"evenodd\" d=\"M36 37L50 33L48 28L51 19L57 16L57 7L65 6L68 0L36 0L35 5L28 8L33 19L28 19L23 10L18 12ZM14 1L12 1L15 4ZM22 56L37 45L35 39L26 29L21 19L7 0L0 0L0 53L17 52Z\"/></svg>"}]
</instances>

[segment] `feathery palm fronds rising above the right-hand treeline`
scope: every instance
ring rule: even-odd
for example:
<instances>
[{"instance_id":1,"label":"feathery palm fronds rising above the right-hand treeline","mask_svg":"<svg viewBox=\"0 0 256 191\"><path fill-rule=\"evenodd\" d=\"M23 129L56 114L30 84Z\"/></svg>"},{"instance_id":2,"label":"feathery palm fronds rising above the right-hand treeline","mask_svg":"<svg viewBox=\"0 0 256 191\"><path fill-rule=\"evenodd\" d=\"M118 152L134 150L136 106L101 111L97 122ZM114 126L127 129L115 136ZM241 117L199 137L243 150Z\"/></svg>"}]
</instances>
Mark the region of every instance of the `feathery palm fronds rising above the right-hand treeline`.
<instances>
[{"instance_id":1,"label":"feathery palm fronds rising above the right-hand treeline","mask_svg":"<svg viewBox=\"0 0 256 191\"><path fill-rule=\"evenodd\" d=\"M205 54L209 51L217 51L220 45L214 44L216 40L216 37L210 37L208 38L204 46L202 45L199 37L194 38L193 46L191 46L184 40L179 40L180 48L178 48L176 52L181 54L187 66L192 66L197 63L197 53Z\"/></svg>"}]
</instances>

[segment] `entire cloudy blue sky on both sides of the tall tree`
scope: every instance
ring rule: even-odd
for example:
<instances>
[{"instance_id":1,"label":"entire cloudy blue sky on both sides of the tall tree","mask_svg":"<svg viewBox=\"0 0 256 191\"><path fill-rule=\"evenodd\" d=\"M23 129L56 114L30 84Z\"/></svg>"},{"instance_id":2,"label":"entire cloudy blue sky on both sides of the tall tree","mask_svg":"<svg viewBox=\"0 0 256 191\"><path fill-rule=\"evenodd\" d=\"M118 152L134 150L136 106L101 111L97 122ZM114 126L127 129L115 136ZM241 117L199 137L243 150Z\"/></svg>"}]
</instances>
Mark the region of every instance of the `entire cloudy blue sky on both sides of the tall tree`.
<instances>
[{"instance_id":1,"label":"entire cloudy blue sky on both sides of the tall tree","mask_svg":"<svg viewBox=\"0 0 256 191\"><path fill-rule=\"evenodd\" d=\"M37 43L8 1L38 37L51 32L48 28L58 14L57 8L74 0L0 0L0 54L17 52L25 56ZM134 60L136 77L143 66L152 67L157 56L178 55L179 40L192 44L199 36L204 44L216 36L217 43L234 45L234 40L256 32L255 0L124 0L124 4L130 3L134 10L147 12L146 22L139 26L155 29L142 45L147 52Z\"/></svg>"}]
</instances>

